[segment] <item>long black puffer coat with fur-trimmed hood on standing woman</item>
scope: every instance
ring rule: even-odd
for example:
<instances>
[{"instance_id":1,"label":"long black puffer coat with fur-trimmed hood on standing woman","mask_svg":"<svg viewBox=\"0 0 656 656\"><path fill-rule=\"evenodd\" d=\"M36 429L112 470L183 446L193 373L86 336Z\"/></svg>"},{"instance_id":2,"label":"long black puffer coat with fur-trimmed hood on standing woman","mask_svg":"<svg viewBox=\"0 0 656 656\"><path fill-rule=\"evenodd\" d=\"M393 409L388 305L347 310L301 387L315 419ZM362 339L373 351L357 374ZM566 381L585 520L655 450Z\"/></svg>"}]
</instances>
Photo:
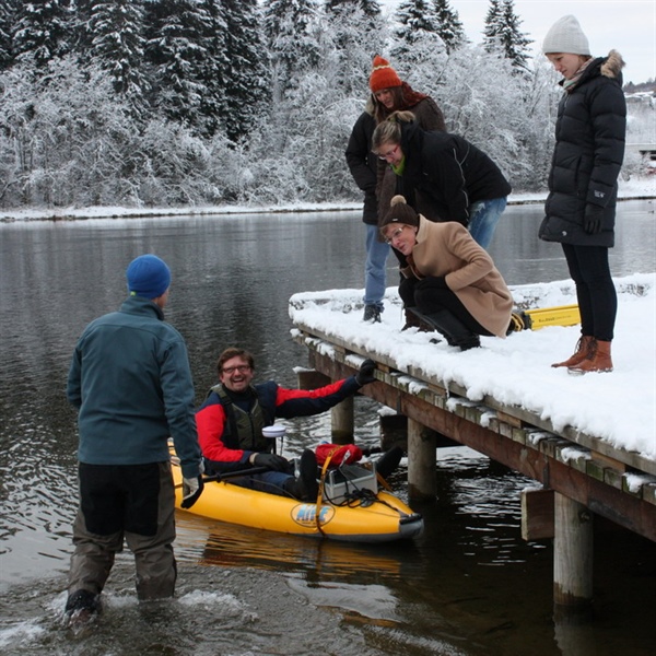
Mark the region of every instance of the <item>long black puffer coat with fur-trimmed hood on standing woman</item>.
<instances>
[{"instance_id":1,"label":"long black puffer coat with fur-trimmed hood on standing woman","mask_svg":"<svg viewBox=\"0 0 656 656\"><path fill-rule=\"evenodd\" d=\"M624 159L624 62L616 50L591 61L558 108L549 197L539 236L575 246L614 244L618 176ZM562 82L561 82L562 84ZM605 208L602 230L583 229L586 203Z\"/></svg>"}]
</instances>

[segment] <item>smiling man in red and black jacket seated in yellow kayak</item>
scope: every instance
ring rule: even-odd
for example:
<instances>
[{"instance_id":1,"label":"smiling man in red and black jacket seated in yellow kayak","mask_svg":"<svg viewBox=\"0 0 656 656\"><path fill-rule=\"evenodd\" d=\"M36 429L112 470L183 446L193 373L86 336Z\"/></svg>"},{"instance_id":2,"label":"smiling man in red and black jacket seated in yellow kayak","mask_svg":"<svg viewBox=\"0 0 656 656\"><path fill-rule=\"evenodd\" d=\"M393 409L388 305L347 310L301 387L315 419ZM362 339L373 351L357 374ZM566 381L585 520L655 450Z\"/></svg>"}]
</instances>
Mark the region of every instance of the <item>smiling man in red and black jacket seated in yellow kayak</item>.
<instances>
[{"instance_id":1,"label":"smiling man in red and black jacket seated in yellow kayak","mask_svg":"<svg viewBox=\"0 0 656 656\"><path fill-rule=\"evenodd\" d=\"M254 384L255 361L244 349L230 348L219 356L220 384L211 388L196 413L198 438L207 473L227 473L248 468L259 473L231 477L231 482L301 501L317 497L317 460L311 449L301 457L298 478L294 465L272 453L273 441L262 429L277 418L311 417L326 412L373 383L375 363L365 360L354 376L318 389L288 389L274 380Z\"/></svg>"}]
</instances>

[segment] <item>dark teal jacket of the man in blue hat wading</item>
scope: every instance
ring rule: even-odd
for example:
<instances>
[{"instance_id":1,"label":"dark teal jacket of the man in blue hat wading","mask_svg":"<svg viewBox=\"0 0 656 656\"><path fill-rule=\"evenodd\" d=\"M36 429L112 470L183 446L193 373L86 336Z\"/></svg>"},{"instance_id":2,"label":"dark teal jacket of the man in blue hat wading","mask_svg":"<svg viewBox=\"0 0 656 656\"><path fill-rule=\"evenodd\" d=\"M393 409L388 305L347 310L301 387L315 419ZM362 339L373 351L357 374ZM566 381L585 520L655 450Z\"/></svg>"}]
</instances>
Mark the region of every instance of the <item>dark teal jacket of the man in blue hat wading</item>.
<instances>
[{"instance_id":1,"label":"dark teal jacket of the man in blue hat wading","mask_svg":"<svg viewBox=\"0 0 656 656\"><path fill-rule=\"evenodd\" d=\"M79 409L81 462L163 462L171 436L184 476L200 473L187 347L152 301L131 296L84 329L67 397Z\"/></svg>"}]
</instances>

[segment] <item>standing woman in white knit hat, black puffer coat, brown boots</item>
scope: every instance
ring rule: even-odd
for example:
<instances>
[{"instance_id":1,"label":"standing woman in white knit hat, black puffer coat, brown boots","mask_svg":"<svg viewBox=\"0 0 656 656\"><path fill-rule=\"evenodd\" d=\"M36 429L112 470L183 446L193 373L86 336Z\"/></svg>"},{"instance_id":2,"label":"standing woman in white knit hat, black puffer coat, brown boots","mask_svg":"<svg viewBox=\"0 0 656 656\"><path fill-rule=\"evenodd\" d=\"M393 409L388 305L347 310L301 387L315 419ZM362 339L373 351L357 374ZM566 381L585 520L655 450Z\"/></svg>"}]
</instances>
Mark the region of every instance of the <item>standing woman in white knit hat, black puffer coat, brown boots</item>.
<instances>
[{"instance_id":1,"label":"standing woman in white knit hat, black puffer coat, brown boots","mask_svg":"<svg viewBox=\"0 0 656 656\"><path fill-rule=\"evenodd\" d=\"M616 50L594 59L573 15L553 24L542 50L563 75L564 93L539 236L562 244L581 312L581 339L574 354L552 366L576 374L610 372L618 302L608 249L614 243L618 176L626 133L624 61Z\"/></svg>"}]
</instances>

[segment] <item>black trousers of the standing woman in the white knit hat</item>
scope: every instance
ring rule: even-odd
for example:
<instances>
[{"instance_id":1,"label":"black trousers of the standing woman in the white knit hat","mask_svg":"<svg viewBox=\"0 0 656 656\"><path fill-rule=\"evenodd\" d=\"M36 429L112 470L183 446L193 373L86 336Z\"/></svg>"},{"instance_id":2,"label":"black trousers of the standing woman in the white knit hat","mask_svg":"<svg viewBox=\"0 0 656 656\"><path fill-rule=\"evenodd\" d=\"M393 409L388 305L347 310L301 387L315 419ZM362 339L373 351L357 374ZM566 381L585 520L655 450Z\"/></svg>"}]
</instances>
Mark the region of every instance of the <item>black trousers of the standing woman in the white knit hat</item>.
<instances>
[{"instance_id":1,"label":"black trousers of the standing woman in the white knit hat","mask_svg":"<svg viewBox=\"0 0 656 656\"><path fill-rule=\"evenodd\" d=\"M576 285L581 313L581 333L600 341L611 341L618 296L605 246L572 246L562 244L570 276Z\"/></svg>"}]
</instances>

